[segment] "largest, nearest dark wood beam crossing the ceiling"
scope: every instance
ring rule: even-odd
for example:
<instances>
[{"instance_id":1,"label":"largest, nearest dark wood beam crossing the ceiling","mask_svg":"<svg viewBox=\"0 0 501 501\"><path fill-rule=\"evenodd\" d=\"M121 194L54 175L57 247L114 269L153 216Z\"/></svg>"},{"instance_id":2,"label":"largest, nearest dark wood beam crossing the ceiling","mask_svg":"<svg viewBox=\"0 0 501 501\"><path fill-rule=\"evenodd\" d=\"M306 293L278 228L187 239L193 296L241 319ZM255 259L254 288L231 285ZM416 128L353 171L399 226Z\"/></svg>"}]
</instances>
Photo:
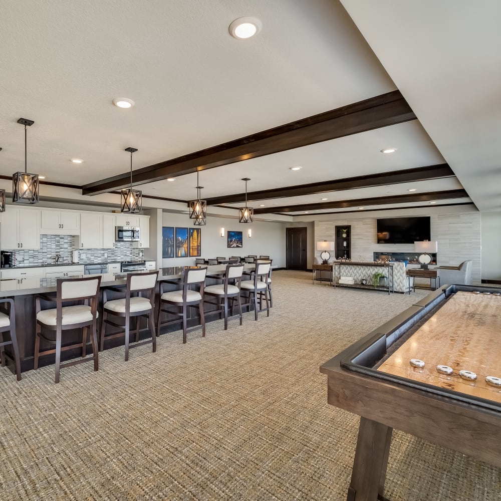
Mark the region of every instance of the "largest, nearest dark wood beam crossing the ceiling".
<instances>
[{"instance_id":1,"label":"largest, nearest dark wood beam crossing the ceiling","mask_svg":"<svg viewBox=\"0 0 501 501\"><path fill-rule=\"evenodd\" d=\"M388 125L415 120L416 115L399 91L359 101L312 117L290 122L250 136L235 139L188 155L133 171L134 185L160 181L212 169L250 158L358 134ZM84 195L97 195L124 188L130 172L83 186Z\"/></svg>"}]
</instances>

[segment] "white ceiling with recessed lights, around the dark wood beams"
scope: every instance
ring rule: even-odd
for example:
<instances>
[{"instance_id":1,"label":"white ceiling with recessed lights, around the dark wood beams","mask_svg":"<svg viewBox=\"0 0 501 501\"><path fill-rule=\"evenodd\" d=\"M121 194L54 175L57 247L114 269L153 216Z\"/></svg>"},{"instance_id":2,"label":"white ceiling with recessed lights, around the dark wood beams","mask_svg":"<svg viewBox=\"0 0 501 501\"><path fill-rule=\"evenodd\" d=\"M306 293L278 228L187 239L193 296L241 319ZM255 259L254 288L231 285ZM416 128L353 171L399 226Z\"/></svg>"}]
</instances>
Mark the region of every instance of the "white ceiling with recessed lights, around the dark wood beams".
<instances>
[{"instance_id":1,"label":"white ceiling with recessed lights, around the dark wood beams","mask_svg":"<svg viewBox=\"0 0 501 501\"><path fill-rule=\"evenodd\" d=\"M250 177L248 190L256 191L447 161L478 207L498 208L497 202L488 202L496 188L481 186L480 176L468 174L472 163L476 168L477 157L482 160L479 174L488 174L483 156L501 153L493 145L485 155L473 151L477 143L487 148L486 143L493 142L487 125L495 129L500 108L490 93L492 106L482 110L470 106L471 94L480 99L480 88L470 89L463 82L468 74L462 67L469 64L487 76L488 65L480 51L487 36L477 44L476 57L483 63L470 63L472 51L461 53L462 49L449 47L455 43L450 37L459 36L449 24L462 26L467 19L462 20L452 4L453 20L434 2L414 10L396 0L386 1L386 10L379 10L379 3L343 3L372 48L337 0L149 0L140 7L133 0L5 0L0 16L0 175L24 169L24 132L16 123L20 117L35 121L28 130L28 171L44 174L48 181L82 185L127 171L129 154L123 151L127 146L139 150L133 156L133 168L138 169L398 87L419 121L203 171L202 195L242 192L242 177ZM494 2L485 5L499 13ZM381 12L388 25L382 22ZM419 20L428 22L427 15L435 12L441 21L430 26L436 25L447 37L441 39L433 32L433 47ZM262 31L250 40L233 39L229 24L249 15L260 18ZM427 69L425 55L433 50L436 56ZM441 60L453 50L455 57ZM488 51L493 63L501 62L491 54L493 47ZM460 54L464 57L459 58ZM500 67L490 70L492 85L499 82ZM461 83L455 86L448 78L459 70ZM446 86L440 85L444 78L449 82ZM115 97L128 97L136 105L130 110L116 108ZM440 106L441 99L446 108ZM483 122L480 111L490 120ZM467 127L462 123L466 118L471 118ZM456 132L460 138L454 136ZM380 153L389 146L397 151ZM75 166L70 162L74 157L84 163ZM495 170L498 158L492 157L491 169ZM303 168L292 172L289 167L294 165ZM454 179L418 184L421 191L460 187ZM187 200L194 197L194 186L196 177L191 174L141 189L145 195ZM328 196L384 196L406 189L391 185ZM308 195L307 202L310 196L320 201L320 196ZM293 205L305 199L269 203ZM465 200L469 199L461 202Z\"/></svg>"}]
</instances>

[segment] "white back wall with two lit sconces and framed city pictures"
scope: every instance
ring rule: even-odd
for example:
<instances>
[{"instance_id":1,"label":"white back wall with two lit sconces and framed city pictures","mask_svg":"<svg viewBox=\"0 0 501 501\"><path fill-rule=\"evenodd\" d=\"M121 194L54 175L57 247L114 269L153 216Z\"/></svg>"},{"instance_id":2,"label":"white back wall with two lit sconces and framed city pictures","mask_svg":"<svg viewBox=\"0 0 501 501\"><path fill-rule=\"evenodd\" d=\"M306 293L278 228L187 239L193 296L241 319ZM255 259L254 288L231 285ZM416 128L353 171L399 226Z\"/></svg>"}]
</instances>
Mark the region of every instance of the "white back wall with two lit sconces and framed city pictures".
<instances>
[{"instance_id":1,"label":"white back wall with two lit sconces and framed city pictures","mask_svg":"<svg viewBox=\"0 0 501 501\"><path fill-rule=\"evenodd\" d=\"M187 214L164 212L163 226L194 227ZM207 216L207 224L199 226L202 237L202 258L230 256L265 255L273 260L273 266L285 267L285 224L282 222L254 221L252 224L240 224L236 217ZM221 227L224 237L220 236ZM247 230L252 229L252 237L248 238ZM242 231L243 247L227 247L227 230ZM163 259L164 267L192 265L195 258Z\"/></svg>"}]
</instances>

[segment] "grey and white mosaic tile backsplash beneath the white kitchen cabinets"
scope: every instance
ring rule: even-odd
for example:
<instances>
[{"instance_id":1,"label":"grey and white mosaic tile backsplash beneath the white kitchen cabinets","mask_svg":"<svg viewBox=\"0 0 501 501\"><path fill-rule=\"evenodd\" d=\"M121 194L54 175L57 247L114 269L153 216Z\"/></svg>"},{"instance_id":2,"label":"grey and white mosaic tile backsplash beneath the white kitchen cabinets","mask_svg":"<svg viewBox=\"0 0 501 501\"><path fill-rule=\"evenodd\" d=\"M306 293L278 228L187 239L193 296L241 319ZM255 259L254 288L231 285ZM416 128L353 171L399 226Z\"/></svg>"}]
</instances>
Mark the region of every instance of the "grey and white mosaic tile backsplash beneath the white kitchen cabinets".
<instances>
[{"instance_id":1,"label":"grey and white mosaic tile backsplash beneath the white kitchen cabinets","mask_svg":"<svg viewBox=\"0 0 501 501\"><path fill-rule=\"evenodd\" d=\"M81 249L79 250L79 264L113 263L142 259L143 249L133 248L132 245L132 242L115 242L115 248L113 249ZM61 256L58 264L71 264L73 263L73 250L75 248L75 236L73 235L40 235L40 249L14 250L12 252L11 266L53 265L56 263L56 254Z\"/></svg>"}]
</instances>

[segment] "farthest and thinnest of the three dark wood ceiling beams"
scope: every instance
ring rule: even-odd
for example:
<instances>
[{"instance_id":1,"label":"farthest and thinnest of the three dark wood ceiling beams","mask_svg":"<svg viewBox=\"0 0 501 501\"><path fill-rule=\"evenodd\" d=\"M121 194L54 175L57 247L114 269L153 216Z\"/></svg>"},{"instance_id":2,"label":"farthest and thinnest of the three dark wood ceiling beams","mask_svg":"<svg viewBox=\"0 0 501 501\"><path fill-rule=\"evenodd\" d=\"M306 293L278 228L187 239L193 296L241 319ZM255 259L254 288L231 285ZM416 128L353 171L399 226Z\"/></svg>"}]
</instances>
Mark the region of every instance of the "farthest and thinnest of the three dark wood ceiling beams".
<instances>
[{"instance_id":1,"label":"farthest and thinnest of the three dark wood ceiling beams","mask_svg":"<svg viewBox=\"0 0 501 501\"><path fill-rule=\"evenodd\" d=\"M332 202L308 203L303 205L285 205L283 207L255 208L255 214L303 212L305 210L342 209L363 207L367 205L388 205L390 203L428 202L431 200L448 200L468 196L464 189L431 191L428 193L413 193L409 195L377 196L372 198L356 198L354 200L337 200Z\"/></svg>"}]
</instances>

